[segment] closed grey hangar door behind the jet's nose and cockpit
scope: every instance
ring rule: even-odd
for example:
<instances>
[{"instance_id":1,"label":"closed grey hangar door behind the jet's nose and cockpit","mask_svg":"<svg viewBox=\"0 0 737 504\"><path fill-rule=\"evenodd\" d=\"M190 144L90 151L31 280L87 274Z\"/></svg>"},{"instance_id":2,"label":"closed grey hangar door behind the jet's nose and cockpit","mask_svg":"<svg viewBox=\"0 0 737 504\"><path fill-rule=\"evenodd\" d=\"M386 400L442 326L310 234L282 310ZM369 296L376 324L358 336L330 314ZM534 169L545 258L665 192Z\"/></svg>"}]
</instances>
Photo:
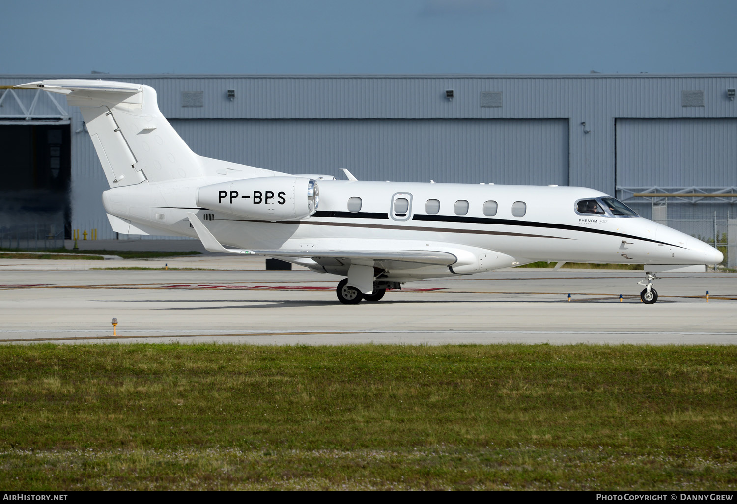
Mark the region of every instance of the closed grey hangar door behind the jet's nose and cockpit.
<instances>
[{"instance_id":1,"label":"closed grey hangar door behind the jet's nose and cockpit","mask_svg":"<svg viewBox=\"0 0 737 504\"><path fill-rule=\"evenodd\" d=\"M707 240L716 234L718 243L726 237L734 198L633 194L737 192L737 119L617 119L616 156L617 196L643 217Z\"/></svg>"}]
</instances>

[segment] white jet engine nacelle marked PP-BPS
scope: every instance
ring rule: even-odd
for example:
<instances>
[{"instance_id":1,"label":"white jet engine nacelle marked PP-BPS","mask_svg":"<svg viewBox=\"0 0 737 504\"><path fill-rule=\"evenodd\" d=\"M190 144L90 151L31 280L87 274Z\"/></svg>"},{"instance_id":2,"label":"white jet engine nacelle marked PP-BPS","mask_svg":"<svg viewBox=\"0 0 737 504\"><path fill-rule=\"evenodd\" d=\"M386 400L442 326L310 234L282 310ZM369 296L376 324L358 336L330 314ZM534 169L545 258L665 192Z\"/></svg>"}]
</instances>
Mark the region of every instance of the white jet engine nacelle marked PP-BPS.
<instances>
[{"instance_id":1,"label":"white jet engine nacelle marked PP-BPS","mask_svg":"<svg viewBox=\"0 0 737 504\"><path fill-rule=\"evenodd\" d=\"M205 209L275 221L310 217L319 197L318 184L310 178L258 177L202 186L195 201Z\"/></svg>"}]
</instances>

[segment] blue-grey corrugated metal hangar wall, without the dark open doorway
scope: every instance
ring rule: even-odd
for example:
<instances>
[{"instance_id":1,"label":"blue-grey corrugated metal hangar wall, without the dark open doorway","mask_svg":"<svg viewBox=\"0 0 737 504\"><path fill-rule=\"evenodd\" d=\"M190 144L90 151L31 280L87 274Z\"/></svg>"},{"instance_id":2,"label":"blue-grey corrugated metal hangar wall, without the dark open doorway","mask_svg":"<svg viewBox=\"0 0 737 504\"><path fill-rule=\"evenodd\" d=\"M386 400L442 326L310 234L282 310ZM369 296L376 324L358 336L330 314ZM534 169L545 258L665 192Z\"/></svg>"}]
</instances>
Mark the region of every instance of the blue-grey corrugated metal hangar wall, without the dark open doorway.
<instances>
[{"instance_id":1,"label":"blue-grey corrugated metal hangar wall, without the dark open doorway","mask_svg":"<svg viewBox=\"0 0 737 504\"><path fill-rule=\"evenodd\" d=\"M0 76L0 85L57 77ZM737 102L727 98L727 89L737 88L737 74L104 78L156 88L164 116L175 119L195 151L265 168L301 165L301 172L334 173L346 167L360 178L380 180L569 183L611 194L625 172L632 175L627 183L638 176L644 181L648 173L660 186L686 180L696 186L737 185L734 122L716 121L737 118ZM232 101L228 89L235 91ZM448 89L453 100L445 96ZM183 107L183 91L202 91L203 106ZM501 107L481 106L481 93L488 91L501 93ZM703 91L704 106L683 106L683 91ZM81 127L78 115L73 132ZM622 122L629 119L657 121L630 127ZM617 129L626 124L625 130L615 131L615 123ZM643 136L636 127L644 128ZM666 141L674 135L687 145ZM671 172L674 158L677 169ZM624 168L644 159L653 167L648 172ZM102 237L109 228L99 203L105 181L86 133L72 133L72 163L73 226L98 228ZM694 164L699 171L689 172ZM624 171L615 178L619 167Z\"/></svg>"}]
</instances>

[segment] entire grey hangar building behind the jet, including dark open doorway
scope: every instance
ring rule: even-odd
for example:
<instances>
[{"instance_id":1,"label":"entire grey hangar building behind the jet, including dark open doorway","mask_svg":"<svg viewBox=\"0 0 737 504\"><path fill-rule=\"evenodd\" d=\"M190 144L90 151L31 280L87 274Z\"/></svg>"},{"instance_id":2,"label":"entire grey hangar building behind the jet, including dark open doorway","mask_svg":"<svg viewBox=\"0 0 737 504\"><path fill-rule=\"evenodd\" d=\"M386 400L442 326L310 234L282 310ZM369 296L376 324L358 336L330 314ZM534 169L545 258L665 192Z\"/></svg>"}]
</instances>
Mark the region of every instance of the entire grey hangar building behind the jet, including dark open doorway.
<instances>
[{"instance_id":1,"label":"entire grey hangar building behind the jet, including dark open doorway","mask_svg":"<svg viewBox=\"0 0 737 504\"><path fill-rule=\"evenodd\" d=\"M57 77L0 76L0 237L114 238L78 109L8 88ZM587 186L718 241L737 218L737 197L634 196L737 192L737 74L65 77L150 85L192 150L256 167Z\"/></svg>"}]
</instances>

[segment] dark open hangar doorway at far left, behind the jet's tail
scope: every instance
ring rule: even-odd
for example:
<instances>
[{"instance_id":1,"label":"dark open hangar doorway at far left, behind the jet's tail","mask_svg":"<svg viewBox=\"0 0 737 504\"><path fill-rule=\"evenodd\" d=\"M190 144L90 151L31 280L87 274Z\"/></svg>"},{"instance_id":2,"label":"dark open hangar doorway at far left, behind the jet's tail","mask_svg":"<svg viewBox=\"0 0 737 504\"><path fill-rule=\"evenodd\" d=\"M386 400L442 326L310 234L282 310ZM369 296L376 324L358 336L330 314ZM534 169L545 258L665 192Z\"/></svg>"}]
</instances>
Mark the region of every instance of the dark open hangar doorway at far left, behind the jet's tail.
<instances>
[{"instance_id":1,"label":"dark open hangar doorway at far left, behind the jet's tail","mask_svg":"<svg viewBox=\"0 0 737 504\"><path fill-rule=\"evenodd\" d=\"M41 248L71 236L69 137L68 121L0 123L1 246Z\"/></svg>"}]
</instances>

